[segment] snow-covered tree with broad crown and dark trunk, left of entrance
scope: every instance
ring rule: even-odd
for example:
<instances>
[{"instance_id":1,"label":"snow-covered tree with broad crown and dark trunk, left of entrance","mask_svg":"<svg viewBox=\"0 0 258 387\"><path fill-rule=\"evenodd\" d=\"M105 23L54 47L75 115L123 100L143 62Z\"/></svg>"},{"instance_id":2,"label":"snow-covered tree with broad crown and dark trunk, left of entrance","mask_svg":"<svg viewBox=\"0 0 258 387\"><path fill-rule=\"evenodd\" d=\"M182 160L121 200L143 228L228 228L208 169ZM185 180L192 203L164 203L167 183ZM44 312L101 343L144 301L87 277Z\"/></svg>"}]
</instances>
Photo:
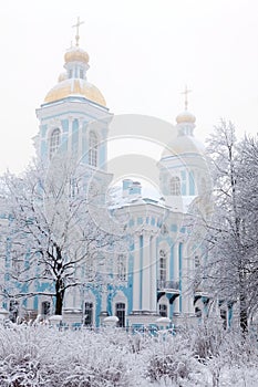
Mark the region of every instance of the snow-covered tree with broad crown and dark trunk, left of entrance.
<instances>
[{"instance_id":1,"label":"snow-covered tree with broad crown and dark trunk, left of entrance","mask_svg":"<svg viewBox=\"0 0 258 387\"><path fill-rule=\"evenodd\" d=\"M21 177L6 175L9 296L51 295L62 314L66 290L96 279L97 260L112 254L122 234L94 180L85 166L64 158L48 170L38 164Z\"/></svg>"}]
</instances>

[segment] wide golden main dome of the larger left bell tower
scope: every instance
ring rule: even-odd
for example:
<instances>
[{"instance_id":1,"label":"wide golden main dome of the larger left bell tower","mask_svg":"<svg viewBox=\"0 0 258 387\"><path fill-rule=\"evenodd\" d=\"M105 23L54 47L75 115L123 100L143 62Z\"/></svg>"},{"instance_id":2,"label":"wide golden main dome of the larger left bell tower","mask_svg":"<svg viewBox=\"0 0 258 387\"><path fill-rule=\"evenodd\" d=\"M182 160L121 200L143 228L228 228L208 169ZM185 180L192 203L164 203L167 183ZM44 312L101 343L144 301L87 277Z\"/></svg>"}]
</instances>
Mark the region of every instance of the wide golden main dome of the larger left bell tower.
<instances>
[{"instance_id":1,"label":"wide golden main dome of the larger left bell tower","mask_svg":"<svg viewBox=\"0 0 258 387\"><path fill-rule=\"evenodd\" d=\"M61 81L47 94L44 102L54 102L71 95L80 95L97 103L99 105L106 106L105 98L99 88L81 79Z\"/></svg>"}]
</instances>

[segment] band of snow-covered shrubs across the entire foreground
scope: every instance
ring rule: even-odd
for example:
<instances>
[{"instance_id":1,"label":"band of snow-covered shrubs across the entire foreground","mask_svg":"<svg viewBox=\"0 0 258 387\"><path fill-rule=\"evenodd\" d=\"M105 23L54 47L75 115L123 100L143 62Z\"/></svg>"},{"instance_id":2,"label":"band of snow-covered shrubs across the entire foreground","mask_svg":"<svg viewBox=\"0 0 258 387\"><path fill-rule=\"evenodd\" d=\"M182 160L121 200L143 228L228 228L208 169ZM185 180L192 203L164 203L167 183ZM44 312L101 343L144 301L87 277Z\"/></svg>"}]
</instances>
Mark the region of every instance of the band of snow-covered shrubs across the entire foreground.
<instances>
[{"instance_id":1,"label":"band of snow-covered shrubs across the entire foreground","mask_svg":"<svg viewBox=\"0 0 258 387\"><path fill-rule=\"evenodd\" d=\"M216 326L155 337L115 328L0 326L1 387L252 387L257 369L254 337Z\"/></svg>"}]
</instances>

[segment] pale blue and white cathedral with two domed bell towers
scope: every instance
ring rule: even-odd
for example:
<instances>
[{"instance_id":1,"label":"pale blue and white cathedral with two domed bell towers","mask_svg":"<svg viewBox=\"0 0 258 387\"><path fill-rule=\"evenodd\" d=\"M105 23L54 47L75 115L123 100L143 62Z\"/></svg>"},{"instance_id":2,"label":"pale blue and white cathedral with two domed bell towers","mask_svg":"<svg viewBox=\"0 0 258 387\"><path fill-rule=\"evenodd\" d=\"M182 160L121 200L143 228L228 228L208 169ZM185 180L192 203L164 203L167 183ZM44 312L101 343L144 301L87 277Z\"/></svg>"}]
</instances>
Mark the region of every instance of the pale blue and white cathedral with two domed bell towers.
<instances>
[{"instance_id":1,"label":"pale blue and white cathedral with two domed bell towers","mask_svg":"<svg viewBox=\"0 0 258 387\"><path fill-rule=\"evenodd\" d=\"M96 176L99 189L105 190L113 179L112 170L107 170L113 114L101 91L87 81L89 67L89 54L79 45L78 33L76 43L65 52L64 73L37 109L39 133L34 145L45 166L63 147L87 166ZM64 324L171 326L186 317L194 323L204 313L207 294L189 286L203 255L202 232L193 226L192 215L197 207L208 216L205 196L209 179L205 148L194 136L196 118L188 111L187 92L185 109L173 126L176 136L167 138L156 164L161 197L143 195L142 184L127 176L120 181L117 191L113 187L120 197L113 196L109 210L128 215L127 248L112 258L112 282L101 286L85 282L82 289L65 294ZM47 318L53 314L52 300L44 295L31 297L27 310ZM22 313L20 307L18 314Z\"/></svg>"}]
</instances>

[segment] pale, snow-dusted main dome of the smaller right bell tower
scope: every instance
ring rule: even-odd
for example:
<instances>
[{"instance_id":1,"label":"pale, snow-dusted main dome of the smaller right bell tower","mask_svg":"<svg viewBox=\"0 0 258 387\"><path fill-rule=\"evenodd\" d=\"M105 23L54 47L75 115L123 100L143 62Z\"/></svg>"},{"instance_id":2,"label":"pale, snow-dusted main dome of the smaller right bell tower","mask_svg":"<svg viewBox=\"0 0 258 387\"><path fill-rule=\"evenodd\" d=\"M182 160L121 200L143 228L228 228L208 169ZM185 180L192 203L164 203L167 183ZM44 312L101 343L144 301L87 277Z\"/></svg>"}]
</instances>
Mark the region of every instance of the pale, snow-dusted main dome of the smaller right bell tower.
<instances>
[{"instance_id":1,"label":"pale, snow-dusted main dome of the smaller right bell tower","mask_svg":"<svg viewBox=\"0 0 258 387\"><path fill-rule=\"evenodd\" d=\"M163 151L162 157L177 156L185 154L205 154L205 147L193 136L178 136Z\"/></svg>"}]
</instances>

